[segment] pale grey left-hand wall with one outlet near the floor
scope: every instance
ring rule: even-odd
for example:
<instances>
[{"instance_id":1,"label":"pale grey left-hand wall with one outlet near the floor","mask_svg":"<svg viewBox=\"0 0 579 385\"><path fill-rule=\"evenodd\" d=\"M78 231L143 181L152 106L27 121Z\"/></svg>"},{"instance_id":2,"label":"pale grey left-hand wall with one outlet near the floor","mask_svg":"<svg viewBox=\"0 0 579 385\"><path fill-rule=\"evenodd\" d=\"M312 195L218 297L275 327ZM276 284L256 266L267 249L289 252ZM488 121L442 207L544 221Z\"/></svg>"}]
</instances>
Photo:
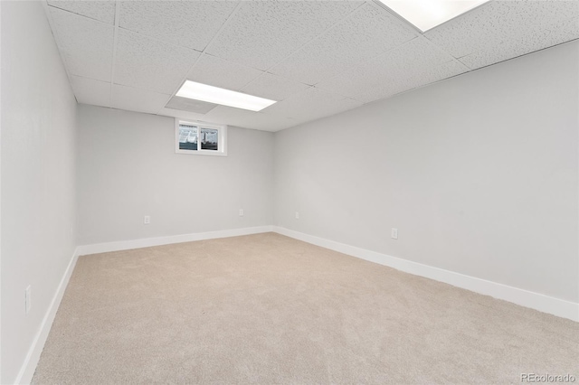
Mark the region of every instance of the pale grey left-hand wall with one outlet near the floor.
<instances>
[{"instance_id":1,"label":"pale grey left-hand wall with one outlet near the floor","mask_svg":"<svg viewBox=\"0 0 579 385\"><path fill-rule=\"evenodd\" d=\"M8 384L22 380L76 245L76 100L40 2L2 2L1 77L0 382Z\"/></svg>"}]
</instances>

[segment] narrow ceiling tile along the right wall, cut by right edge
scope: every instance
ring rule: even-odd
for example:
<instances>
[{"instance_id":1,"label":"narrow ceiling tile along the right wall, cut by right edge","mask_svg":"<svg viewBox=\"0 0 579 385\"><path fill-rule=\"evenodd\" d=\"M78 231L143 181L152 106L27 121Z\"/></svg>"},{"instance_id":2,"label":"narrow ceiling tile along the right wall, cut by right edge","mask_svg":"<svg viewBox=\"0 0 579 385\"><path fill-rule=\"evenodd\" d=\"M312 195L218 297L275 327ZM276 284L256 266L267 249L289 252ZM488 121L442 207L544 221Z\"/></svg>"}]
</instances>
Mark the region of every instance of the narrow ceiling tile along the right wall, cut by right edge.
<instances>
[{"instance_id":1,"label":"narrow ceiling tile along the right wall, cut by right edge","mask_svg":"<svg viewBox=\"0 0 579 385\"><path fill-rule=\"evenodd\" d=\"M518 39L501 42L490 49L471 53L460 58L460 61L476 70L574 39L579 39L579 20L575 18L555 23L548 29L529 32Z\"/></svg>"}]
</instances>

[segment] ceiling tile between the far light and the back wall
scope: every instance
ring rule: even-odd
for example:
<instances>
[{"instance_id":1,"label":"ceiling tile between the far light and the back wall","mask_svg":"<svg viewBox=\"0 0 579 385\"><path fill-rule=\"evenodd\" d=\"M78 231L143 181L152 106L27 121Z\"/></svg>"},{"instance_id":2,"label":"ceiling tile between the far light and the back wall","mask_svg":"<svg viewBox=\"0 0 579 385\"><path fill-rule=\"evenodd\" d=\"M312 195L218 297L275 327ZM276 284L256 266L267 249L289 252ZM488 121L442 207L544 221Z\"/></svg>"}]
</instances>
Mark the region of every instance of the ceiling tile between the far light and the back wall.
<instances>
[{"instance_id":1,"label":"ceiling tile between the far light and the back wall","mask_svg":"<svg viewBox=\"0 0 579 385\"><path fill-rule=\"evenodd\" d=\"M220 124L261 129L263 131L279 131L299 123L289 117L272 116L261 112L225 106L217 106L205 115L205 118Z\"/></svg>"}]
</instances>

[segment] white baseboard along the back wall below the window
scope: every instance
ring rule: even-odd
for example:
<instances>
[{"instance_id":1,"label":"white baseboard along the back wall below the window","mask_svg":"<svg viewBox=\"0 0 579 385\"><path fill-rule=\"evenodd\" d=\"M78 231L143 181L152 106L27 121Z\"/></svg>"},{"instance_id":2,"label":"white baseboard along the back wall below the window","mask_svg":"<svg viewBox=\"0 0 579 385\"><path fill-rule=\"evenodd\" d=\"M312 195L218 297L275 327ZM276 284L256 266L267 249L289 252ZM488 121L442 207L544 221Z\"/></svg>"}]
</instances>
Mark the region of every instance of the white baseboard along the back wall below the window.
<instances>
[{"instance_id":1,"label":"white baseboard along the back wall below the window","mask_svg":"<svg viewBox=\"0 0 579 385\"><path fill-rule=\"evenodd\" d=\"M196 232L193 234L172 235L167 237L121 240L117 242L95 243L78 247L79 256L121 251L128 249L150 248L151 246L170 245L173 243L193 242L195 240L239 237L241 235L271 232L271 226L247 227L242 229Z\"/></svg>"}]
</instances>

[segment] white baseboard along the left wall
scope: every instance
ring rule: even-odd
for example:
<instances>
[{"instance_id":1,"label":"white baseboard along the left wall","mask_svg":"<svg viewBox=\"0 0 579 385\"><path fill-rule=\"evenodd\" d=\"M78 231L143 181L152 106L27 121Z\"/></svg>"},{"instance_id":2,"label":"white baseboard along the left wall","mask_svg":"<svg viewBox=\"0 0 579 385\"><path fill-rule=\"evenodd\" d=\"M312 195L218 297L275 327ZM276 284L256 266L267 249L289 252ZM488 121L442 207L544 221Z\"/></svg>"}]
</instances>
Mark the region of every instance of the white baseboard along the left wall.
<instances>
[{"instance_id":1,"label":"white baseboard along the left wall","mask_svg":"<svg viewBox=\"0 0 579 385\"><path fill-rule=\"evenodd\" d=\"M42 354L44 349L44 343L46 343L48 334L51 331L52 322L54 322L54 317L56 316L58 307L61 305L62 296L64 296L64 290L66 290L66 286L68 286L69 284L69 280L71 279L72 271L76 266L76 261L78 257L79 254L77 248L72 254L69 266L64 271L61 283L59 284L56 293L52 297L51 305L48 307L48 311L44 315L43 323L40 325L38 333L36 333L36 335L34 336L33 344L30 347L28 354L26 354L26 358L24 359L22 368L18 372L18 376L16 377L14 383L30 384L30 382L33 380L36 365L38 365L38 362L40 361L40 355Z\"/></svg>"}]
</instances>

